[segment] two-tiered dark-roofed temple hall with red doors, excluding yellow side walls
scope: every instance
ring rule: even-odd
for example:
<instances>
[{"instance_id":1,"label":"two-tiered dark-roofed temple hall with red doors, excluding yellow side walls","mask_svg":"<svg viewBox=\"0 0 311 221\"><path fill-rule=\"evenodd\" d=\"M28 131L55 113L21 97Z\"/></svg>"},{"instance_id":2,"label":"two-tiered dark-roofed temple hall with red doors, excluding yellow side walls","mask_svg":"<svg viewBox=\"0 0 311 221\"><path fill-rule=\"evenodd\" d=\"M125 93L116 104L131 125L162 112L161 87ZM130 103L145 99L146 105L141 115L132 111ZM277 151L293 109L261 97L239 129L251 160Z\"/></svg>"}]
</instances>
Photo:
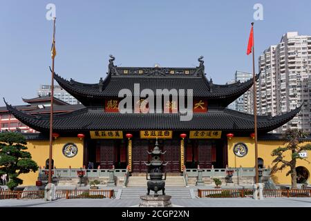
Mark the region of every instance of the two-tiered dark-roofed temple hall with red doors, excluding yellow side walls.
<instances>
[{"instance_id":1,"label":"two-tiered dark-roofed temple hall with red doors, excluding yellow side walls","mask_svg":"<svg viewBox=\"0 0 311 221\"><path fill-rule=\"evenodd\" d=\"M147 151L153 148L156 137L162 151L167 151L162 159L169 162L165 167L167 172L180 173L184 165L187 168L225 168L228 164L227 134L249 137L254 131L253 115L226 107L251 88L253 81L213 84L205 77L201 61L196 68L140 68L117 67L111 59L106 78L96 84L66 80L55 74L58 84L85 108L55 115L53 132L60 137L77 137L83 133L83 150L78 151L83 151L80 165L90 164L95 169L114 166L115 169L127 167L135 173L147 171L144 162L150 160ZM138 94L135 85L140 88ZM128 100L133 106L130 103L124 106L128 113L122 113L119 107L122 89L133 95ZM162 94L160 99L155 97L153 105L150 99L147 103L144 97L139 97L142 90L156 95L158 89L167 89L170 94ZM177 91L177 99L172 91ZM182 102L185 102L184 109L180 106ZM153 106L156 108L152 111ZM48 134L49 116L28 115L8 104L7 108L24 124ZM299 111L300 108L296 108L276 117L258 116L258 135L285 124ZM185 115L191 115L191 119L182 120ZM128 133L131 138L126 138ZM182 133L187 135L185 140L180 137Z\"/></svg>"}]
</instances>

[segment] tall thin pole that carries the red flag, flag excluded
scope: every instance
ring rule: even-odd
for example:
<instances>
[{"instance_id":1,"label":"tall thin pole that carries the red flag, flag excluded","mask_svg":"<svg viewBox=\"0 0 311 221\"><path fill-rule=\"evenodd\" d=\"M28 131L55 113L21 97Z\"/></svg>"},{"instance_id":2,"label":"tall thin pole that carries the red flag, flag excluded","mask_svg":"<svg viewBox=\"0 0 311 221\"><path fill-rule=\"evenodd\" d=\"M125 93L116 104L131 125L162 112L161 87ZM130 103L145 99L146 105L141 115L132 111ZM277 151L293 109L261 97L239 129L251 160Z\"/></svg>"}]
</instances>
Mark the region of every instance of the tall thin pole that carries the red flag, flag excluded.
<instances>
[{"instance_id":1,"label":"tall thin pole that carries the red flag, flag excluded","mask_svg":"<svg viewBox=\"0 0 311 221\"><path fill-rule=\"evenodd\" d=\"M254 132L255 132L255 183L258 184L258 145L257 145L257 104L256 104L256 75L255 75L255 50L254 50L254 22L252 22L253 28L253 42L252 42L252 54L253 54L253 88L254 88Z\"/></svg>"}]
</instances>

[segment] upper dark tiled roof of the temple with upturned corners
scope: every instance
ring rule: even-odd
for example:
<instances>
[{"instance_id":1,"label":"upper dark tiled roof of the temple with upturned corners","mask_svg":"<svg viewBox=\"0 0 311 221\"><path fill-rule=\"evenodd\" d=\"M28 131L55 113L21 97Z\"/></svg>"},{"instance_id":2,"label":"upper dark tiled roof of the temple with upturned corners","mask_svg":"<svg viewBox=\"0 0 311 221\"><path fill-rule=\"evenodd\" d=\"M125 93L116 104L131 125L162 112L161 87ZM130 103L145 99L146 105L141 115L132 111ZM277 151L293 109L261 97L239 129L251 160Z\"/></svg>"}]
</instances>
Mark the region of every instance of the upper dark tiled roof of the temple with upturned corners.
<instances>
[{"instance_id":1,"label":"upper dark tiled roof of the temple with upturned corners","mask_svg":"<svg viewBox=\"0 0 311 221\"><path fill-rule=\"evenodd\" d=\"M256 79L258 76L259 74L256 75ZM54 78L62 88L82 102L84 106L91 106L89 104L92 104L92 100L102 101L104 97L117 97L120 90L124 88L133 93L134 84L140 84L140 90L149 88L154 93L156 89L164 88L185 89L186 93L187 89L193 89L194 97L228 99L230 103L243 95L253 84L253 80L249 79L243 83L218 85L208 81L205 75L112 75L111 72L98 84L84 84L73 79L66 80L56 73Z\"/></svg>"}]
</instances>

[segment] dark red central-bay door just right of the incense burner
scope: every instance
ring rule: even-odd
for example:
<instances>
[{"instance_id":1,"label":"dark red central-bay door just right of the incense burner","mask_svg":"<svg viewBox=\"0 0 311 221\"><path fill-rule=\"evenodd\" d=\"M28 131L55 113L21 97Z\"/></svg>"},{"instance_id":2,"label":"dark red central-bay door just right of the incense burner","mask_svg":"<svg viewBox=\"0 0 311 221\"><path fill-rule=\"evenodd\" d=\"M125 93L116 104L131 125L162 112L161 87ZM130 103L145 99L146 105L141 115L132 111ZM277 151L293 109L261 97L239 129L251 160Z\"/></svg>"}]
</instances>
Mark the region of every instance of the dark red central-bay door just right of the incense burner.
<instances>
[{"instance_id":1,"label":"dark red central-bay door just right of the incense burner","mask_svg":"<svg viewBox=\"0 0 311 221\"><path fill-rule=\"evenodd\" d=\"M164 166L166 172L180 172L180 146L178 140L164 140L162 151L167 151L162 159L164 162L169 162Z\"/></svg>"}]
</instances>

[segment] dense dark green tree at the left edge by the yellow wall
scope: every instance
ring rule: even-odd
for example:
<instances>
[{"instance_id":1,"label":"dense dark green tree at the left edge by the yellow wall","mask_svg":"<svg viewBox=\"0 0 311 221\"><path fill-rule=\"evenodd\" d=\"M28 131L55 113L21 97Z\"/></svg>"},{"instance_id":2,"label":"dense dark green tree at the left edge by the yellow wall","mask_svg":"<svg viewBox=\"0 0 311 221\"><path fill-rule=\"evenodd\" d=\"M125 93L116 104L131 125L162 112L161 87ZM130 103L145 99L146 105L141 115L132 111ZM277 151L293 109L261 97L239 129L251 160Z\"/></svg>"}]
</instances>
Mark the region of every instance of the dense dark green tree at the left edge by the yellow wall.
<instances>
[{"instance_id":1,"label":"dense dark green tree at the left edge by the yellow wall","mask_svg":"<svg viewBox=\"0 0 311 221\"><path fill-rule=\"evenodd\" d=\"M20 133L0 133L0 175L8 175L8 188L13 190L23 180L19 179L21 173L37 171L38 165L31 160L27 151L26 138Z\"/></svg>"}]
</instances>

